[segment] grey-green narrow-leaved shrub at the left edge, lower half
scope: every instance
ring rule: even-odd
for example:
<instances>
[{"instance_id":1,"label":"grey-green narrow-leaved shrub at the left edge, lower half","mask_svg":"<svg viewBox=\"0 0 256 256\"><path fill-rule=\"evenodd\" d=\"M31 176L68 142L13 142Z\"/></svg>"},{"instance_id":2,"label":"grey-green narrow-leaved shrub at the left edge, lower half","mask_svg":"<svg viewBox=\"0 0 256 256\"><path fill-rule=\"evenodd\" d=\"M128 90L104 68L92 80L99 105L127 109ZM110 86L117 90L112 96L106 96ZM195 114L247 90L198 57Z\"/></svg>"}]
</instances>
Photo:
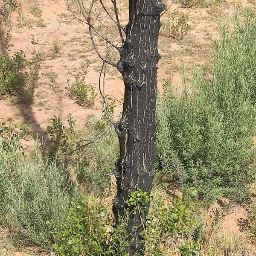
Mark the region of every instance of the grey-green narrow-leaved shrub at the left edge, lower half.
<instances>
[{"instance_id":1,"label":"grey-green narrow-leaved shrub at the left edge, lower half","mask_svg":"<svg viewBox=\"0 0 256 256\"><path fill-rule=\"evenodd\" d=\"M17 139L0 141L0 224L27 244L49 247L47 221L64 221L70 201L78 198L65 172L42 157L29 159Z\"/></svg>"}]
</instances>

